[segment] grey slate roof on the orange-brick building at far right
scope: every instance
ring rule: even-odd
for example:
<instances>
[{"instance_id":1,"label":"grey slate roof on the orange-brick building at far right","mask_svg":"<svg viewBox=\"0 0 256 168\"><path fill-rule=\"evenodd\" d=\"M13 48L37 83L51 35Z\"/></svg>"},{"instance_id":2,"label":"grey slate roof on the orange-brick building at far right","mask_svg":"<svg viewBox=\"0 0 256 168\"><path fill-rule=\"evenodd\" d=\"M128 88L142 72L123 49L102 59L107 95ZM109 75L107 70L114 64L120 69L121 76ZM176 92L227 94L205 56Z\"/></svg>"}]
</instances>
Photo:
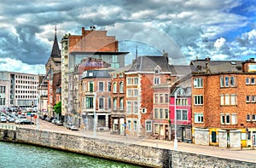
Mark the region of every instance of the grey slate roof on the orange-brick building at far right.
<instances>
[{"instance_id":1,"label":"grey slate roof on the orange-brick building at far right","mask_svg":"<svg viewBox=\"0 0 256 168\"><path fill-rule=\"evenodd\" d=\"M211 61L206 59L191 61L190 65L195 66L194 72L242 72L242 62L244 61Z\"/></svg>"}]
</instances>

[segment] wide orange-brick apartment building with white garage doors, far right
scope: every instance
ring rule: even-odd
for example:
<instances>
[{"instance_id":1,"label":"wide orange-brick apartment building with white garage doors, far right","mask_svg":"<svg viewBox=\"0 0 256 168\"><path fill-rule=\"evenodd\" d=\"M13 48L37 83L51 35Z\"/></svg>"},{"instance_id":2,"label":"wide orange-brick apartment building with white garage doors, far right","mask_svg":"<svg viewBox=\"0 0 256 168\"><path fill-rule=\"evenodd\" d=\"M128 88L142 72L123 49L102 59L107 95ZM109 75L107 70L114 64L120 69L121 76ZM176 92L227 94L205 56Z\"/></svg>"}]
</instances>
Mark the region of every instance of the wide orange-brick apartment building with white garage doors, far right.
<instances>
[{"instance_id":1,"label":"wide orange-brick apartment building with white garage doors, far right","mask_svg":"<svg viewBox=\"0 0 256 168\"><path fill-rule=\"evenodd\" d=\"M255 146L256 62L191 61L194 142L223 148Z\"/></svg>"}]
</instances>

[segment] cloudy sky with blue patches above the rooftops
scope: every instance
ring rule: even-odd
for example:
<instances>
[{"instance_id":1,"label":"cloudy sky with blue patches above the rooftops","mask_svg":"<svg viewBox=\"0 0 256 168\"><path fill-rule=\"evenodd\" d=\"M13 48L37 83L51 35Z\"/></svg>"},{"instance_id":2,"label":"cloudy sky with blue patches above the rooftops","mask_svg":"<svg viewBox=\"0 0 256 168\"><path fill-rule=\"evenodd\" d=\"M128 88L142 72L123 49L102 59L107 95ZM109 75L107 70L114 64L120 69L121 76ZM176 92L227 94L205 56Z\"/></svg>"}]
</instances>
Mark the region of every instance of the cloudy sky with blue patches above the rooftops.
<instances>
[{"instance_id":1,"label":"cloudy sky with blue patches above the rooftops","mask_svg":"<svg viewBox=\"0 0 256 168\"><path fill-rule=\"evenodd\" d=\"M44 74L55 38L96 26L128 51L195 59L245 61L256 55L253 0L0 0L0 71ZM61 43L59 44L61 49Z\"/></svg>"}]
</instances>

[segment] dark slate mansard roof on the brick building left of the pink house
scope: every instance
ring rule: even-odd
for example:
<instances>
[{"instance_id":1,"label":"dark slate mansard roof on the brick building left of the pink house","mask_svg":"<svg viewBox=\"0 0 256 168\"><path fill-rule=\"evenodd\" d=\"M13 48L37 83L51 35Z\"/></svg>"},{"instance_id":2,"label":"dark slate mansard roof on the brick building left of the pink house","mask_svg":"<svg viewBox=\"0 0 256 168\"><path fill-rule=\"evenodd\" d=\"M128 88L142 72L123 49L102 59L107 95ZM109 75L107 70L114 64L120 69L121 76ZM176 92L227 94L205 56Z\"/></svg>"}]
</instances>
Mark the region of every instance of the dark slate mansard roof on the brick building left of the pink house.
<instances>
[{"instance_id":1,"label":"dark slate mansard roof on the brick building left of the pink house","mask_svg":"<svg viewBox=\"0 0 256 168\"><path fill-rule=\"evenodd\" d=\"M159 66L160 72L171 72L170 65L165 56L144 55L139 56L132 64L128 72L154 72L154 68Z\"/></svg>"}]
</instances>

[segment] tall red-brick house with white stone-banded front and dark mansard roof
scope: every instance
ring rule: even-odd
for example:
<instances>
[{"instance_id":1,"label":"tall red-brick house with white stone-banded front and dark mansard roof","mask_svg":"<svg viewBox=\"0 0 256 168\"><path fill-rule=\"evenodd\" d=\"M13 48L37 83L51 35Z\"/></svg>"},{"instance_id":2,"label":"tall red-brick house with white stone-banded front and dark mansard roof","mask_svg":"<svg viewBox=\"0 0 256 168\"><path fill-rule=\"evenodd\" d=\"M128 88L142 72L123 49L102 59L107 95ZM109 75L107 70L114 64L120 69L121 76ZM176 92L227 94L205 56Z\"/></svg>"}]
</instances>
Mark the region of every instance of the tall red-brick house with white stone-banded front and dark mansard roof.
<instances>
[{"instance_id":1,"label":"tall red-brick house with white stone-banded front and dark mansard roof","mask_svg":"<svg viewBox=\"0 0 256 168\"><path fill-rule=\"evenodd\" d=\"M153 86L166 83L171 69L168 57L139 56L126 75L126 134L152 136Z\"/></svg>"}]
</instances>

